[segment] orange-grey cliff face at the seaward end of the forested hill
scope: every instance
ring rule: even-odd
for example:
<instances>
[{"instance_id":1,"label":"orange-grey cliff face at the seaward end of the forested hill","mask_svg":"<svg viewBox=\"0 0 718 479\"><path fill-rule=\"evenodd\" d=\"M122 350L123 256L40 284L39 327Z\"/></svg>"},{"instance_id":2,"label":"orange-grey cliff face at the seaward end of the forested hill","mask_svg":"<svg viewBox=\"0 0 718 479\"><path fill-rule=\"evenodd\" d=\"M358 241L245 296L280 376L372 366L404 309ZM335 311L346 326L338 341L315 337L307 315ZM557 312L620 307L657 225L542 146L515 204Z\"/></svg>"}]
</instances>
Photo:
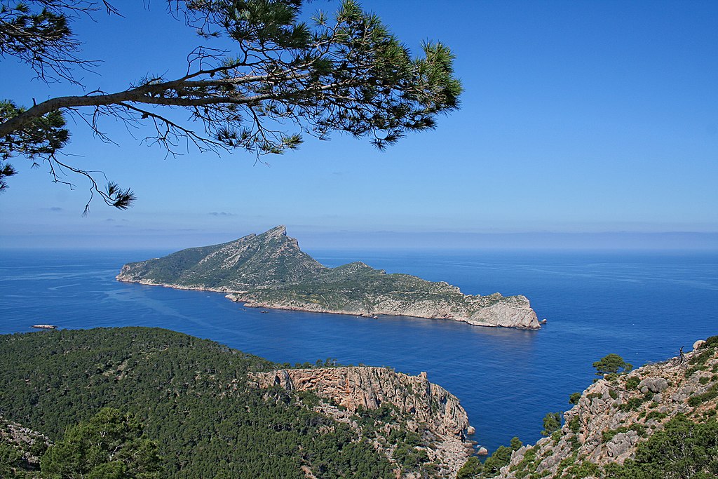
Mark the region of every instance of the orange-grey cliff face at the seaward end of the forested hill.
<instances>
[{"instance_id":1,"label":"orange-grey cliff face at the seaward end of the forested hill","mask_svg":"<svg viewBox=\"0 0 718 479\"><path fill-rule=\"evenodd\" d=\"M373 435L375 446L390 460L396 455L392 432L408 429L420 434L425 446L416 449L436 462L439 477L455 477L472 452L465 438L474 430L466 411L456 396L430 383L426 373L407 376L388 368L364 366L282 369L252 373L249 381L261 389L279 386L286 391L312 391L326 400L315 404L315 410L357 430L362 430L357 412L383 409L382 422L377 422L381 427L363 430L363 434Z\"/></svg>"}]
</instances>

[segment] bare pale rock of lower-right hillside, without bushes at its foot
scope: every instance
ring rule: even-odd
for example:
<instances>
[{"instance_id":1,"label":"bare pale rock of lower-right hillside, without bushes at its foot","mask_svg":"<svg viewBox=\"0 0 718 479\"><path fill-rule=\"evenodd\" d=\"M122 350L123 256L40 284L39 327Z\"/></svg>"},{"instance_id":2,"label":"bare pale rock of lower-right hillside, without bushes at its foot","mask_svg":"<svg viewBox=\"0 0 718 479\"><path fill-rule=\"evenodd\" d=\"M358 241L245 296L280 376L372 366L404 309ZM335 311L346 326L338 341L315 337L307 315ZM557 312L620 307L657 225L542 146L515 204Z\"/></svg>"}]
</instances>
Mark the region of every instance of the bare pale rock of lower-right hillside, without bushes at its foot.
<instances>
[{"instance_id":1,"label":"bare pale rock of lower-right hillside, without bushes at its foot","mask_svg":"<svg viewBox=\"0 0 718 479\"><path fill-rule=\"evenodd\" d=\"M607 376L586 389L564 414L564 427L513 452L500 478L612 478L637 448L666 428L671 419L715 421L718 409L718 337L698 342L685 358ZM715 441L716 438L713 438ZM668 454L675 447L663 447ZM718 472L718 449L713 454ZM697 474L699 471L695 471ZM696 477L714 477L696 475ZM660 471L657 477L668 477ZM646 476L646 477L653 477ZM679 476L682 477L682 476ZM691 475L692 477L692 475Z\"/></svg>"}]
</instances>

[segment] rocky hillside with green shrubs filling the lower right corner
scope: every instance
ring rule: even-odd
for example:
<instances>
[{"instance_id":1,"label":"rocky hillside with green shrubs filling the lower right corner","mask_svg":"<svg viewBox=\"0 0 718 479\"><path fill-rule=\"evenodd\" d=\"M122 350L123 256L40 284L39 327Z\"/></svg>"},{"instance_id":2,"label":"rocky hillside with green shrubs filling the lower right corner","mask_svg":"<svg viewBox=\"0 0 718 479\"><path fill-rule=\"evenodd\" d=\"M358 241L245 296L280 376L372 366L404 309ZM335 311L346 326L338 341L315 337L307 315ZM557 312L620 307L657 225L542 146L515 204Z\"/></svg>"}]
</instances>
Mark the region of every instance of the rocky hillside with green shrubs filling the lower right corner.
<instances>
[{"instance_id":1,"label":"rocky hillside with green shrubs filling the lower right corner","mask_svg":"<svg viewBox=\"0 0 718 479\"><path fill-rule=\"evenodd\" d=\"M559 431L514 451L495 477L628 478L636 477L637 471L645 478L716 477L717 410L714 336L696 342L684 357L596 381L564 413ZM712 437L700 437L705 432L693 429L696 424L712 424ZM648 461L656 460L656 449L640 448L660 432L665 434L656 441L656 449L661 451L658 461L665 465L654 465Z\"/></svg>"}]
</instances>

